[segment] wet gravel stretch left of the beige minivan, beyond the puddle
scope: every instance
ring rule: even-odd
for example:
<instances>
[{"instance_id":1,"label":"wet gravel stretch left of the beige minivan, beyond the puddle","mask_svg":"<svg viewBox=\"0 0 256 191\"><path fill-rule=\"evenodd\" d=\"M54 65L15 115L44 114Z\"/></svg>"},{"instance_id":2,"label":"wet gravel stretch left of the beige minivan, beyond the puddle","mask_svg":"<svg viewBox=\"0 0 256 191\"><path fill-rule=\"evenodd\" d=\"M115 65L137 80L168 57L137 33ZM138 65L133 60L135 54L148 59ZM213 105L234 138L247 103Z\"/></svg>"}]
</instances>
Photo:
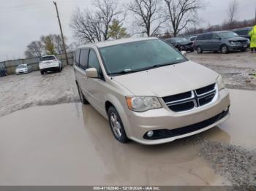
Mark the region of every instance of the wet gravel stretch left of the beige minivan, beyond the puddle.
<instances>
[{"instance_id":1,"label":"wet gravel stretch left of the beige minivan, beyond the puddle","mask_svg":"<svg viewBox=\"0 0 256 191\"><path fill-rule=\"evenodd\" d=\"M79 101L74 71L70 66L61 73L43 76L39 71L33 71L30 74L1 77L0 87L0 116L30 106Z\"/></svg>"}]
</instances>

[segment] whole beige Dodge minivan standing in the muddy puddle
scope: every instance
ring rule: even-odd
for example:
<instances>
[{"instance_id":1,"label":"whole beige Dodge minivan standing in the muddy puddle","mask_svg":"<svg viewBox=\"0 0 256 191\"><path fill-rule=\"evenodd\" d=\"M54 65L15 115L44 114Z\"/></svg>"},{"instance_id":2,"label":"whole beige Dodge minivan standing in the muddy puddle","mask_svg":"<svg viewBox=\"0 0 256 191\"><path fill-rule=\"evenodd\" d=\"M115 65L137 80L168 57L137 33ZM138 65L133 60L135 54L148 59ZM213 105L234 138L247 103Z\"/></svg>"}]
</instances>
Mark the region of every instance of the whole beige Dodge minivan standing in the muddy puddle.
<instances>
[{"instance_id":1,"label":"whole beige Dodge minivan standing in the muddy puddle","mask_svg":"<svg viewBox=\"0 0 256 191\"><path fill-rule=\"evenodd\" d=\"M162 144L229 117L222 77L160 39L87 44L74 62L80 100L108 119L122 143Z\"/></svg>"}]
</instances>

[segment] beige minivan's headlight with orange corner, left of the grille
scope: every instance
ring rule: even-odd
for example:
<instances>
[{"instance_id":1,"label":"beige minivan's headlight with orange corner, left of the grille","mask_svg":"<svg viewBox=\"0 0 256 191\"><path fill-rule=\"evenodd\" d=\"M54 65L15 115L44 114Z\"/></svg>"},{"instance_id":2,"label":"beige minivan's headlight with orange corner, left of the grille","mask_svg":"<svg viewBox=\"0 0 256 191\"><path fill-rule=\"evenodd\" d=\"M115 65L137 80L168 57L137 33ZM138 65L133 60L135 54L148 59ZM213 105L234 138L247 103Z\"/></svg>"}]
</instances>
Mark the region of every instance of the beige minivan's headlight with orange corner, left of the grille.
<instances>
[{"instance_id":1,"label":"beige minivan's headlight with orange corner, left of the grille","mask_svg":"<svg viewBox=\"0 0 256 191\"><path fill-rule=\"evenodd\" d=\"M146 112L149 109L162 108L156 97L127 97L129 109L135 112Z\"/></svg>"}]
</instances>

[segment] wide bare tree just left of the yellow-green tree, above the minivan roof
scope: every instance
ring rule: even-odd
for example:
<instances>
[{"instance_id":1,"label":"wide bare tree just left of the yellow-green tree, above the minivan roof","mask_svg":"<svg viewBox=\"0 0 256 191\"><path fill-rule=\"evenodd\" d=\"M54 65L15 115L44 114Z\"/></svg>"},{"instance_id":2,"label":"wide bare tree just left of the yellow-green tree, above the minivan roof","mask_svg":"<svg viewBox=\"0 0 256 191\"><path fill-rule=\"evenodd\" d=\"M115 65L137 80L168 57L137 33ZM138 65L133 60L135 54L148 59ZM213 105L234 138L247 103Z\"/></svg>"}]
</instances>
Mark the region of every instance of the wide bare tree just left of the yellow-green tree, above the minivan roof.
<instances>
[{"instance_id":1,"label":"wide bare tree just left of the yellow-green tree, above the minivan roof","mask_svg":"<svg viewBox=\"0 0 256 191\"><path fill-rule=\"evenodd\" d=\"M97 0L94 2L96 12L88 9L77 9L72 16L71 28L74 36L83 42L99 42L108 40L109 26L121 13L113 0Z\"/></svg>"}]
</instances>

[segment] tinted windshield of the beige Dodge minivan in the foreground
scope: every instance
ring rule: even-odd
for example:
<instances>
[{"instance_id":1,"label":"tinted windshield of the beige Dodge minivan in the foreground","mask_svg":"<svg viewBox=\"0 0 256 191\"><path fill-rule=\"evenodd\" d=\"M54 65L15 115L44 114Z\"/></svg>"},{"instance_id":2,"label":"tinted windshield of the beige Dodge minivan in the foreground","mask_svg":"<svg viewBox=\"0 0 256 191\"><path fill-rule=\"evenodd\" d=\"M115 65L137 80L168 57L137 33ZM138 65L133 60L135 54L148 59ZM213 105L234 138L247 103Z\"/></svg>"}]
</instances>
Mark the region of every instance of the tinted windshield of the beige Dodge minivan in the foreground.
<instances>
[{"instance_id":1,"label":"tinted windshield of the beige Dodge minivan in the foreground","mask_svg":"<svg viewBox=\"0 0 256 191\"><path fill-rule=\"evenodd\" d=\"M159 39L118 44L99 50L108 74L124 74L187 61L178 50Z\"/></svg>"}]
</instances>

